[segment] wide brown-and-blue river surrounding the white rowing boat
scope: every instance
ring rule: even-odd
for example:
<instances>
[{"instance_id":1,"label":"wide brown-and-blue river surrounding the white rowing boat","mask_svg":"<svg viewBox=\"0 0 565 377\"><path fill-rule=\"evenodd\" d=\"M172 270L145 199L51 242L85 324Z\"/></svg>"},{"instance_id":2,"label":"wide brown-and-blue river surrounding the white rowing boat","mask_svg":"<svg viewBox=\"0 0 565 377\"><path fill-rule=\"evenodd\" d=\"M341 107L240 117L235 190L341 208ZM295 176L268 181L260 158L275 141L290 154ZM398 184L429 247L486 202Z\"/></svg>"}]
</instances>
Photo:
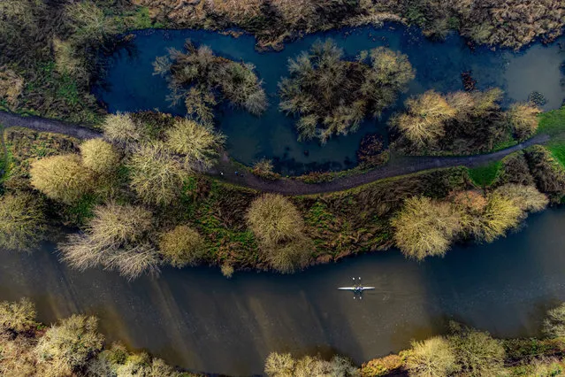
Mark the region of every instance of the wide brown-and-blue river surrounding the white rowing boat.
<instances>
[{"instance_id":1,"label":"wide brown-and-blue river surrounding the white rowing boat","mask_svg":"<svg viewBox=\"0 0 565 377\"><path fill-rule=\"evenodd\" d=\"M291 276L167 268L158 279L70 271L52 250L3 254L0 299L28 296L40 319L99 316L110 341L169 363L216 373L262 373L271 350L333 352L361 363L445 331L458 319L498 336L538 335L565 300L565 211L531 216L520 233L456 247L424 263L374 253ZM375 286L363 301L336 288L352 276Z\"/></svg>"}]
</instances>

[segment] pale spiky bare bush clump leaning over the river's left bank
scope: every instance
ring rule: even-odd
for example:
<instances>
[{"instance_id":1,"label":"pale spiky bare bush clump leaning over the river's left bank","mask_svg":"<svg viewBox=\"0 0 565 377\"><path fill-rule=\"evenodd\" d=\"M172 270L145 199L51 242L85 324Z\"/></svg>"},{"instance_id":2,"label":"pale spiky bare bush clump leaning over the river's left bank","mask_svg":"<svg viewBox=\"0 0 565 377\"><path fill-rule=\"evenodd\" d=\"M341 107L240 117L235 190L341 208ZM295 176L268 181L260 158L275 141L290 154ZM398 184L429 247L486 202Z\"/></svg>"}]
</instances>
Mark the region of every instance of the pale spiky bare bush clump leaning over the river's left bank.
<instances>
[{"instance_id":1,"label":"pale spiky bare bush clump leaning over the river's left bank","mask_svg":"<svg viewBox=\"0 0 565 377\"><path fill-rule=\"evenodd\" d=\"M70 235L59 245L63 259L73 268L95 265L118 270L128 279L141 273L158 273L157 250L150 244L152 218L149 211L132 205L98 206L84 234Z\"/></svg>"}]
</instances>

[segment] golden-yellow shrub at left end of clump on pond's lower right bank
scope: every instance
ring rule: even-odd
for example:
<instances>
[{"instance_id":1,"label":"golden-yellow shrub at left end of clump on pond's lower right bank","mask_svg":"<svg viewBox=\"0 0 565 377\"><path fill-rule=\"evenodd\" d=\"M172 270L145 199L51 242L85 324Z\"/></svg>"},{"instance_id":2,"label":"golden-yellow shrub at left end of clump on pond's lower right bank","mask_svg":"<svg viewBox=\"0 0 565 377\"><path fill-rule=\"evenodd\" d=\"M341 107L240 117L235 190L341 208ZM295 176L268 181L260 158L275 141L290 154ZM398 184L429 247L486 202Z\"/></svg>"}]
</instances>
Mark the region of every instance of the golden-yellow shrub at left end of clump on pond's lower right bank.
<instances>
[{"instance_id":1,"label":"golden-yellow shrub at left end of clump on pond's lower right bank","mask_svg":"<svg viewBox=\"0 0 565 377\"><path fill-rule=\"evenodd\" d=\"M393 118L393 127L417 148L434 145L445 134L445 121L455 116L455 109L433 90L406 101L408 111Z\"/></svg>"}]
</instances>

